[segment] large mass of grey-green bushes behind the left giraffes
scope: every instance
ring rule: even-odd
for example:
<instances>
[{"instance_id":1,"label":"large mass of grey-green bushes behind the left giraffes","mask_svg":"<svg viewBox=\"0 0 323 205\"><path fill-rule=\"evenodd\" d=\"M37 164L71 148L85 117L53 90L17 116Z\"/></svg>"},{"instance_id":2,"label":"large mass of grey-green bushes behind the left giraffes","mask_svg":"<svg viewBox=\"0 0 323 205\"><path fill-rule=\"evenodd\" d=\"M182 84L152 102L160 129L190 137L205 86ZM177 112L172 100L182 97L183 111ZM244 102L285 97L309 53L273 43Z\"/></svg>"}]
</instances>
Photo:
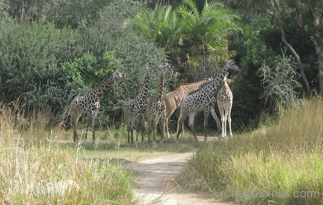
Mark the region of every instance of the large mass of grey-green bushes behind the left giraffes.
<instances>
[{"instance_id":1,"label":"large mass of grey-green bushes behind the left giraffes","mask_svg":"<svg viewBox=\"0 0 323 205\"><path fill-rule=\"evenodd\" d=\"M75 95L85 94L112 70L120 69L128 77L103 95L98 116L99 126L119 122L125 101L142 84L145 67L165 60L163 49L120 26L124 20L118 18L118 8L124 9L124 18L128 11L136 9L128 2L105 7L98 21L82 30L14 21L1 27L0 100L10 102L20 96L25 108L46 107L63 114ZM105 21L111 11L114 15ZM156 83L153 77L151 92Z\"/></svg>"}]
</instances>

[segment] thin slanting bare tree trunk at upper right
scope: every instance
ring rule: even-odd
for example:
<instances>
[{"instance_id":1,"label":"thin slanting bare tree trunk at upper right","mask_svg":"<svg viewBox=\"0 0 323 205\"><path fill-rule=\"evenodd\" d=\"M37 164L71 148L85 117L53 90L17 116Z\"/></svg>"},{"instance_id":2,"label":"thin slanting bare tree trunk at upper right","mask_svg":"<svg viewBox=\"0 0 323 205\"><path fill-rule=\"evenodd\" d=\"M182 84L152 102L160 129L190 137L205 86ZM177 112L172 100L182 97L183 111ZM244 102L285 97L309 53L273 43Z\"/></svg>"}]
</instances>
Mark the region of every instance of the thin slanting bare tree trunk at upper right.
<instances>
[{"instance_id":1,"label":"thin slanting bare tree trunk at upper right","mask_svg":"<svg viewBox=\"0 0 323 205\"><path fill-rule=\"evenodd\" d=\"M296 63L298 64L298 67L299 67L299 74L301 75L301 78L303 80L303 83L305 85L305 89L306 89L306 95L308 97L311 97L312 96L312 90L311 90L311 87L309 85L309 82L307 80L307 77L305 75L305 72L304 72L304 66L303 66L303 63L299 57L299 55L296 53L296 51L294 50L294 48L287 42L286 40L286 35L285 35L285 31L284 31L284 28L282 26L282 21L280 19L280 16L279 16L279 3L277 0L274 0L273 1L274 3L274 10L275 10L275 13L274 13L274 19L275 19L275 23L276 23L276 26L278 26L280 32L281 32L281 38L282 38L282 42L283 44L288 48L288 50L290 52L292 52L294 58L295 58L295 61Z\"/></svg>"}]
</instances>

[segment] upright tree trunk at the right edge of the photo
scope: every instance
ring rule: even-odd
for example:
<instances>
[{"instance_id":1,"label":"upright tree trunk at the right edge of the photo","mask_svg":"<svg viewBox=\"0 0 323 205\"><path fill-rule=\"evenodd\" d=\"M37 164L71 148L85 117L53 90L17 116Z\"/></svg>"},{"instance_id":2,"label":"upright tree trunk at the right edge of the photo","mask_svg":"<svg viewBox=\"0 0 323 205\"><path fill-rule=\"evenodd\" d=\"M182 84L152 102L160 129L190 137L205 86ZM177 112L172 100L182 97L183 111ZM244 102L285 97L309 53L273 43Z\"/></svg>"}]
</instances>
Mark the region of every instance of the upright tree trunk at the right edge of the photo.
<instances>
[{"instance_id":1,"label":"upright tree trunk at the right edge of the photo","mask_svg":"<svg viewBox=\"0 0 323 205\"><path fill-rule=\"evenodd\" d=\"M318 64L318 84L319 93L323 95L323 14L319 9L313 9L311 11L312 22L311 25L314 29L314 45L317 54L317 64Z\"/></svg>"}]
</instances>

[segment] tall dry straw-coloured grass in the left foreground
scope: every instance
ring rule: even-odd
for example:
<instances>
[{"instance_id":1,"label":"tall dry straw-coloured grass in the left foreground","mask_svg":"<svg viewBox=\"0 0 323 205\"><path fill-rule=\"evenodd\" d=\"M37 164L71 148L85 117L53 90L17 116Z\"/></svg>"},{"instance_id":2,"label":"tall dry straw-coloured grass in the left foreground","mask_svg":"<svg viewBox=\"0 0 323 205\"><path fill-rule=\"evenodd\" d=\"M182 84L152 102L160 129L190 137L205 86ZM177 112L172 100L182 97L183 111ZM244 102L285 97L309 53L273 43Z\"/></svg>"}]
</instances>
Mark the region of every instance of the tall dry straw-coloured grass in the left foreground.
<instances>
[{"instance_id":1,"label":"tall dry straw-coloured grass in the left foreground","mask_svg":"<svg viewBox=\"0 0 323 205\"><path fill-rule=\"evenodd\" d=\"M108 160L82 160L53 144L63 131L52 115L1 105L0 200L3 204L137 204L133 182Z\"/></svg>"}]
</instances>

